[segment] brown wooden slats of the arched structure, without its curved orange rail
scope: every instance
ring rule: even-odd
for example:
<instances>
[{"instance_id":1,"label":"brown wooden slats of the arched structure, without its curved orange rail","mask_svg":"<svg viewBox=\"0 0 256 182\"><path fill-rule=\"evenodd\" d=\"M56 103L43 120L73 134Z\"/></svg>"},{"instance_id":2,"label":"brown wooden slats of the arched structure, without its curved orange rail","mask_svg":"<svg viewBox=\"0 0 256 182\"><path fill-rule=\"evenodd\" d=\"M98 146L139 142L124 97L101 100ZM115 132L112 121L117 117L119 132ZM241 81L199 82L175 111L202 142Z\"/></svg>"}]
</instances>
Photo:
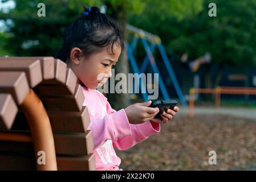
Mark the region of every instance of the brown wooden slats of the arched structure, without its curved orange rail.
<instances>
[{"instance_id":1,"label":"brown wooden slats of the arched structure, without its curved orange rail","mask_svg":"<svg viewBox=\"0 0 256 182\"><path fill-rule=\"evenodd\" d=\"M90 116L88 108L83 106L82 87L67 64L54 57L0 58L1 134L21 133L24 139L31 137L24 114L18 111L15 115L16 104L22 104L29 87L38 94L50 118L58 170L95 170L95 156L91 154L93 135L87 130ZM2 93L10 95L1 98ZM10 98L14 100L12 104ZM5 140L0 140L0 170L36 169L32 140L23 141L21 135L1 136Z\"/></svg>"}]
</instances>

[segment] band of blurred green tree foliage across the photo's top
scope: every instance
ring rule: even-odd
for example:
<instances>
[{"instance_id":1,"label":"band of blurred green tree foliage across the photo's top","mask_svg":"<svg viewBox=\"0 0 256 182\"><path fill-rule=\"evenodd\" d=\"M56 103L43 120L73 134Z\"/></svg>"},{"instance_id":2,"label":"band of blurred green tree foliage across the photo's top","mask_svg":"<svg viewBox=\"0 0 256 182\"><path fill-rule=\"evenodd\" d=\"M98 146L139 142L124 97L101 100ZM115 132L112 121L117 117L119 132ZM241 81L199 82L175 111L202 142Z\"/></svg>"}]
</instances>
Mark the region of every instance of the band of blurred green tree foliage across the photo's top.
<instances>
[{"instance_id":1,"label":"band of blurred green tree foliage across the photo's top","mask_svg":"<svg viewBox=\"0 0 256 182\"><path fill-rule=\"evenodd\" d=\"M16 7L9 13L0 10L0 19L12 22L0 36L1 55L54 56L62 45L64 28L82 13L83 5L106 5L107 13L119 22L159 35L169 54L179 57L188 52L195 59L209 51L213 63L256 64L254 0L44 0L46 17L37 16L39 2L15 0ZM217 17L208 16L210 2L217 5Z\"/></svg>"}]
</instances>

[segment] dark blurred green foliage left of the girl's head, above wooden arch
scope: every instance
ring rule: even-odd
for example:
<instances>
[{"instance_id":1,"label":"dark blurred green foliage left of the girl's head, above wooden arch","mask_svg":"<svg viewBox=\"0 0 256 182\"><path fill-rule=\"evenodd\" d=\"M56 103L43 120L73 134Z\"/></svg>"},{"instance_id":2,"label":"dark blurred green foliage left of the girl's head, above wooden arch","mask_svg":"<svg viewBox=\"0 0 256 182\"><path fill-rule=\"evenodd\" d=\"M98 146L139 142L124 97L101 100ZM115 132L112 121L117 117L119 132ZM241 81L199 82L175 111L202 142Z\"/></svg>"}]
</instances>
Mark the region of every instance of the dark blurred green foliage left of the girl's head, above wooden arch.
<instances>
[{"instance_id":1,"label":"dark blurred green foliage left of the girl's head, above wooden arch","mask_svg":"<svg viewBox=\"0 0 256 182\"><path fill-rule=\"evenodd\" d=\"M42 1L15 1L9 13L0 11L0 19L11 19L6 49L15 56L55 56L62 46L65 27L83 12L83 5L100 5L100 1L44 0L46 16L39 17L37 7Z\"/></svg>"}]
</instances>

